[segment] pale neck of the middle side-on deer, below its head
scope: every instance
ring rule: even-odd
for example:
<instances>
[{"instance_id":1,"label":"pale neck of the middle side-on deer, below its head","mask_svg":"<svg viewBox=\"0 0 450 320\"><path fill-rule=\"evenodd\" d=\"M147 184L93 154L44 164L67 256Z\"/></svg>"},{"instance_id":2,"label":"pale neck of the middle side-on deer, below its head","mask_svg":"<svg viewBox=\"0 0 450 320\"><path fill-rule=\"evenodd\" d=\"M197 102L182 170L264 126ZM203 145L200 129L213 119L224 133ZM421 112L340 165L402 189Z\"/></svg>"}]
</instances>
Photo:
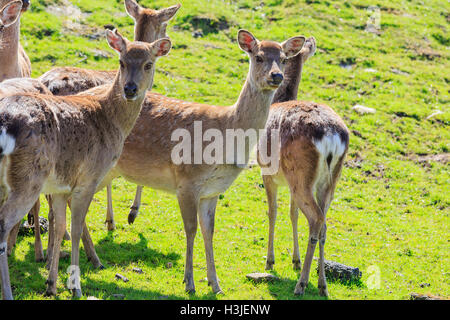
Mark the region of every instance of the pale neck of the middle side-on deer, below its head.
<instances>
[{"instance_id":1,"label":"pale neck of the middle side-on deer, below its head","mask_svg":"<svg viewBox=\"0 0 450 320\"><path fill-rule=\"evenodd\" d=\"M231 127L243 130L264 128L273 95L273 90L261 90L248 76L239 99L232 109Z\"/></svg>"}]
</instances>

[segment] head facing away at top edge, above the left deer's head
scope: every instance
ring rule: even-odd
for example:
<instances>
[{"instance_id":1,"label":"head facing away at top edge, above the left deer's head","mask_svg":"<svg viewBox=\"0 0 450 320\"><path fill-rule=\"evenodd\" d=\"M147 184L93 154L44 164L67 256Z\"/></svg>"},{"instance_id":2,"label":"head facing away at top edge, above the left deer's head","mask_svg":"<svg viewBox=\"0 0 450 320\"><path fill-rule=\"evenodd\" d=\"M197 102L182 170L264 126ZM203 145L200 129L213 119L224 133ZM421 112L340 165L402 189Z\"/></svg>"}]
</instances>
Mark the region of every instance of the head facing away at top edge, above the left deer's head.
<instances>
[{"instance_id":1,"label":"head facing away at top edge, above the left deer's head","mask_svg":"<svg viewBox=\"0 0 450 320\"><path fill-rule=\"evenodd\" d=\"M177 4L161 10L146 9L135 0L125 0L127 13L135 20L135 38L144 42L153 42L156 39L166 38L167 22L173 18L180 9Z\"/></svg>"}]
</instances>

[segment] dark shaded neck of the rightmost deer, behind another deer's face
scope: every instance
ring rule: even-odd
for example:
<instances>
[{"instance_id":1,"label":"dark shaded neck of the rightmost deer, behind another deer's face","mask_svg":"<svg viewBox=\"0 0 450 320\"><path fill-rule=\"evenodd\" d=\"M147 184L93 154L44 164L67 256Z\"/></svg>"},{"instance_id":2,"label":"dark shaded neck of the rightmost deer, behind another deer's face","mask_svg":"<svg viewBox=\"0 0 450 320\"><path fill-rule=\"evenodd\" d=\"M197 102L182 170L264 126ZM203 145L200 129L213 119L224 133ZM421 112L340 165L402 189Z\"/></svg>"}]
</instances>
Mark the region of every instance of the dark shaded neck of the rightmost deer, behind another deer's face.
<instances>
[{"instance_id":1,"label":"dark shaded neck of the rightmost deer, behind another deer's face","mask_svg":"<svg viewBox=\"0 0 450 320\"><path fill-rule=\"evenodd\" d=\"M273 103L297 100L298 87L302 78L303 59L298 54L288 60L284 72L284 80L275 93Z\"/></svg>"}]
</instances>

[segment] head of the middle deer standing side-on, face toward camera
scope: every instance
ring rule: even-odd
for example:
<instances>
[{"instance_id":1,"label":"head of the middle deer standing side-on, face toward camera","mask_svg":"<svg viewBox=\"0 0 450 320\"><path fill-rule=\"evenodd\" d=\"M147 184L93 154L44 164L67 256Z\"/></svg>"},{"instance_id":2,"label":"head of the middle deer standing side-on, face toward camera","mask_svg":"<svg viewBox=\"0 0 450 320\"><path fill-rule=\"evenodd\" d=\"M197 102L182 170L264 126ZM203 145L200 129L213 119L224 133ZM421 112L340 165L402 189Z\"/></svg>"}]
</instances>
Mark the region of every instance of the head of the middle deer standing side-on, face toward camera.
<instances>
[{"instance_id":1,"label":"head of the middle deer standing side-on, face toward camera","mask_svg":"<svg viewBox=\"0 0 450 320\"><path fill-rule=\"evenodd\" d=\"M293 37L282 44L260 42L250 32L240 30L238 42L250 57L249 80L252 84L262 90L276 90L284 79L286 61L300 52L305 37Z\"/></svg>"}]
</instances>

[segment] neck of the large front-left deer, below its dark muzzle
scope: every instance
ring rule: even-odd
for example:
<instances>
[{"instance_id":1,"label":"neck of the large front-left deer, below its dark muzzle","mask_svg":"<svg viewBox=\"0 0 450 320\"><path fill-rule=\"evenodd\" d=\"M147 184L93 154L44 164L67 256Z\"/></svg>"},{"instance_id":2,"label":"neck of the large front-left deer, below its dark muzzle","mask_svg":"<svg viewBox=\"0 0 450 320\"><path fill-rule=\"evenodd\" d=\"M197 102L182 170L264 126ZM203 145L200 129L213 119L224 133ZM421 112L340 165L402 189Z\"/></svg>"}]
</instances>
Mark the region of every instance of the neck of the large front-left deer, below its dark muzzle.
<instances>
[{"instance_id":1,"label":"neck of the large front-left deer, below its dark muzzle","mask_svg":"<svg viewBox=\"0 0 450 320\"><path fill-rule=\"evenodd\" d=\"M145 94L142 94L134 101L126 100L123 97L123 88L119 79L120 71L117 72L114 83L110 86L101 103L104 106L108 119L111 119L120 128L124 136L127 137L139 116Z\"/></svg>"}]
</instances>

